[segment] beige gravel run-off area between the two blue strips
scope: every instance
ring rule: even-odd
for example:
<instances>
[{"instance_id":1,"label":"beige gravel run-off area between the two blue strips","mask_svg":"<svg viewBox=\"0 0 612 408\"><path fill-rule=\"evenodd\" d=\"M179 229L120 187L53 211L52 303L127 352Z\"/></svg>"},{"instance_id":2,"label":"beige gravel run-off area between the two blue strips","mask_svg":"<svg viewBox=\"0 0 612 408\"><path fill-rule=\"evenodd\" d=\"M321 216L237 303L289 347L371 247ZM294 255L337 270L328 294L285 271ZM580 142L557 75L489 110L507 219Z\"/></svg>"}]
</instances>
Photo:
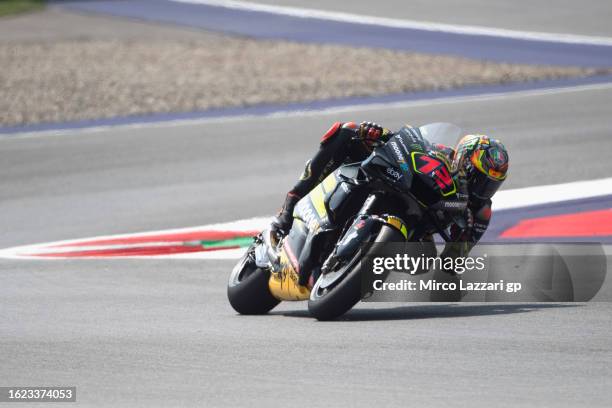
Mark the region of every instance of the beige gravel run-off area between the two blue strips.
<instances>
[{"instance_id":1,"label":"beige gravel run-off area between the two blue strips","mask_svg":"<svg viewBox=\"0 0 612 408\"><path fill-rule=\"evenodd\" d=\"M56 9L0 20L0 66L0 126L605 73L259 41Z\"/></svg>"}]
</instances>

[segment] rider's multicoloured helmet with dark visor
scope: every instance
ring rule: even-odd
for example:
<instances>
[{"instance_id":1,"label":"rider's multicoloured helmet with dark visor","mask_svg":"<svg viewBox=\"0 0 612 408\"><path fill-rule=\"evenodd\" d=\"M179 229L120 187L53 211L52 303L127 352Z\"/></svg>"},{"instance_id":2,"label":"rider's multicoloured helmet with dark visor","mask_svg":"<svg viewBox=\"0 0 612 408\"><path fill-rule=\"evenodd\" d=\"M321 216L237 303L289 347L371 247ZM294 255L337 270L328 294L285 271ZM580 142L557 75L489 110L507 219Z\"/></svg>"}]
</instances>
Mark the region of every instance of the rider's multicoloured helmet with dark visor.
<instances>
[{"instance_id":1,"label":"rider's multicoloured helmet with dark visor","mask_svg":"<svg viewBox=\"0 0 612 408\"><path fill-rule=\"evenodd\" d=\"M497 139L464 136L455 148L452 171L465 177L470 195L489 199L506 179L508 151Z\"/></svg>"}]
</instances>

